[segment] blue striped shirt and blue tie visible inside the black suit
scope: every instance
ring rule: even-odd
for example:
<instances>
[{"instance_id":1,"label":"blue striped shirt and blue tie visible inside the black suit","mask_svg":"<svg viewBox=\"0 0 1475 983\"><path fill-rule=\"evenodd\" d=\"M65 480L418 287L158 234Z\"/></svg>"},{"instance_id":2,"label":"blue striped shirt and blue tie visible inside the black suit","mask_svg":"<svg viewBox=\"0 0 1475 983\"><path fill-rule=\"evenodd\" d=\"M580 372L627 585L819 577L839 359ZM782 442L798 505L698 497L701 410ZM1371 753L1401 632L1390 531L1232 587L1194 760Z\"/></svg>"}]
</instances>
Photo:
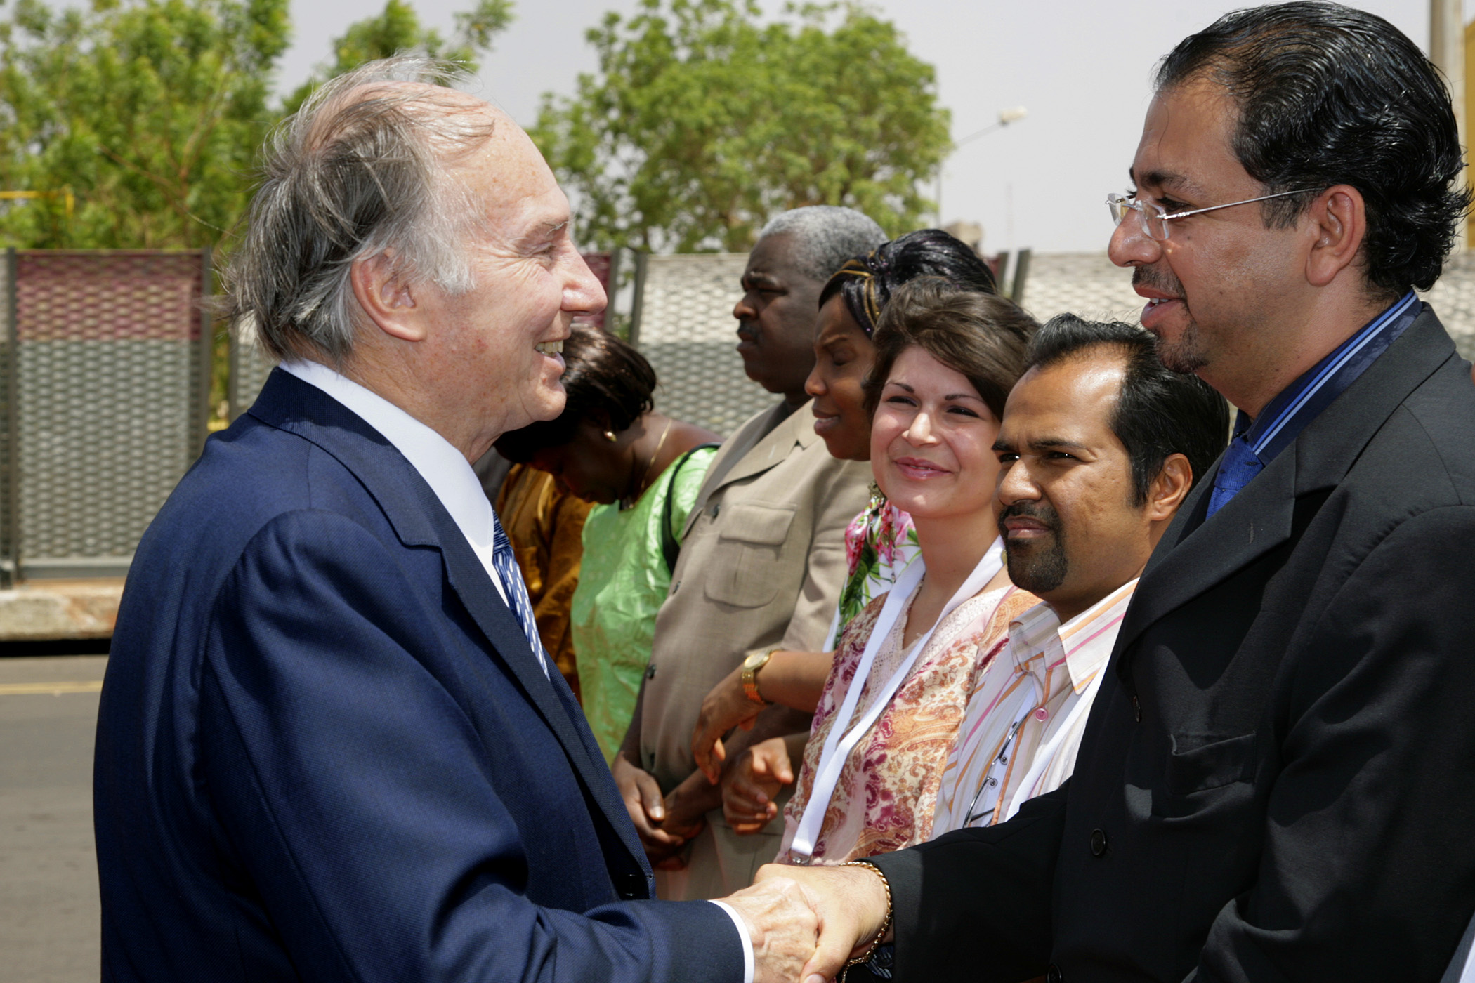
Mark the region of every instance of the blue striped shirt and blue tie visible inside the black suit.
<instances>
[{"instance_id":1,"label":"blue striped shirt and blue tie visible inside the black suit","mask_svg":"<svg viewBox=\"0 0 1475 983\"><path fill-rule=\"evenodd\" d=\"M1280 391L1258 417L1251 420L1240 410L1235 416L1235 438L1214 475L1208 514L1223 508L1276 454L1291 447L1301 430L1347 392L1422 312L1423 304L1409 290Z\"/></svg>"}]
</instances>

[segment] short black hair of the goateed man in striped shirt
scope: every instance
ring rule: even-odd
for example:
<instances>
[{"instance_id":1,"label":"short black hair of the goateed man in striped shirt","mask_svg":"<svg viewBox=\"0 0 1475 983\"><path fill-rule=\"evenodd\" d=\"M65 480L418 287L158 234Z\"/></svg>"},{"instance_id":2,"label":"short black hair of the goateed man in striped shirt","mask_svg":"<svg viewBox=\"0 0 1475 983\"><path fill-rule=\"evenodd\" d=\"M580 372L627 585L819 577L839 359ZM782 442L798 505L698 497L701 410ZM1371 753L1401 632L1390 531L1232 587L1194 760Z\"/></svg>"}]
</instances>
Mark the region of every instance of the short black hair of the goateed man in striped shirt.
<instances>
[{"instance_id":1,"label":"short black hair of the goateed man in striped shirt","mask_svg":"<svg viewBox=\"0 0 1475 983\"><path fill-rule=\"evenodd\" d=\"M1168 371L1152 335L1121 321L1061 314L1035 333L1028 368L1047 368L1102 346L1117 349L1127 363L1111 429L1131 460L1133 504L1146 504L1170 454L1189 458L1196 485L1229 444L1229 404L1198 376Z\"/></svg>"}]
</instances>

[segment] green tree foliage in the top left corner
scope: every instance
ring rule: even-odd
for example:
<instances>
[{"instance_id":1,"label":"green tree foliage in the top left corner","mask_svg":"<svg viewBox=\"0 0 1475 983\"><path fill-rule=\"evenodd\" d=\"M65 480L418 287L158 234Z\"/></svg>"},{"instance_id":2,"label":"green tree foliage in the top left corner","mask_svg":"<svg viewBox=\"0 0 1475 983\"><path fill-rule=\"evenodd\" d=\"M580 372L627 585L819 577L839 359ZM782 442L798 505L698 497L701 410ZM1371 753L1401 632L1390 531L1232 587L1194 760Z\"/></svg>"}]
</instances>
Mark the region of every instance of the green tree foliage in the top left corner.
<instances>
[{"instance_id":1,"label":"green tree foliage in the top left corner","mask_svg":"<svg viewBox=\"0 0 1475 983\"><path fill-rule=\"evenodd\" d=\"M288 0L19 0L0 21L0 242L209 246L276 113ZM75 195L68 218L65 192Z\"/></svg>"}]
</instances>

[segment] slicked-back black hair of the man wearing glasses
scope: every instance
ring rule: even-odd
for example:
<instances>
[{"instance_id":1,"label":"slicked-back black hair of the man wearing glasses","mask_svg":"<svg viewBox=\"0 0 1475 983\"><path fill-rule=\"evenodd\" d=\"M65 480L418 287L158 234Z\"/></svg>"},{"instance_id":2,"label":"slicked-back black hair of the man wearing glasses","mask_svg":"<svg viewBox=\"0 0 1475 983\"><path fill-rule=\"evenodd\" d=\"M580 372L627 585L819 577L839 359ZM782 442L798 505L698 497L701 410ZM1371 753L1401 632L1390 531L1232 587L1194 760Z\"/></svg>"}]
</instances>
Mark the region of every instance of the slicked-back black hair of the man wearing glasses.
<instances>
[{"instance_id":1,"label":"slicked-back black hair of the man wearing glasses","mask_svg":"<svg viewBox=\"0 0 1475 983\"><path fill-rule=\"evenodd\" d=\"M1226 13L1158 65L1162 91L1195 78L1239 106L1235 156L1266 195L1267 227L1295 223L1320 192L1351 184L1367 206L1367 283L1397 296L1440 277L1471 195L1450 93L1398 28L1336 3Z\"/></svg>"}]
</instances>

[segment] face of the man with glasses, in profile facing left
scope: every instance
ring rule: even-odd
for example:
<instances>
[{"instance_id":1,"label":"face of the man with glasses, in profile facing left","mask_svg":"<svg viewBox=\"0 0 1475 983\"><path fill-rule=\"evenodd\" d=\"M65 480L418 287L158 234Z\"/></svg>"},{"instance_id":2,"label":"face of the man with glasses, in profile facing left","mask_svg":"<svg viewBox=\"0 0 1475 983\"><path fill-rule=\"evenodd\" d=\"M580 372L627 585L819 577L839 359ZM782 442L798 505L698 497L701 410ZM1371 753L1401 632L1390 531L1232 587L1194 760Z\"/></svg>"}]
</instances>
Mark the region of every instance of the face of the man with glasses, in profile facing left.
<instances>
[{"instance_id":1,"label":"face of the man with glasses, in profile facing left","mask_svg":"<svg viewBox=\"0 0 1475 983\"><path fill-rule=\"evenodd\" d=\"M1215 83L1158 93L1131 165L1139 199L1171 215L1264 195L1233 153L1238 119ZM1196 371L1221 392L1223 379L1263 371L1264 360L1276 357L1274 329L1305 286L1297 227L1266 228L1261 208L1236 205L1170 221L1167 242L1150 239L1133 214L1111 237L1112 262L1133 267L1133 287L1149 301L1142 326L1158 337L1162 363Z\"/></svg>"}]
</instances>

